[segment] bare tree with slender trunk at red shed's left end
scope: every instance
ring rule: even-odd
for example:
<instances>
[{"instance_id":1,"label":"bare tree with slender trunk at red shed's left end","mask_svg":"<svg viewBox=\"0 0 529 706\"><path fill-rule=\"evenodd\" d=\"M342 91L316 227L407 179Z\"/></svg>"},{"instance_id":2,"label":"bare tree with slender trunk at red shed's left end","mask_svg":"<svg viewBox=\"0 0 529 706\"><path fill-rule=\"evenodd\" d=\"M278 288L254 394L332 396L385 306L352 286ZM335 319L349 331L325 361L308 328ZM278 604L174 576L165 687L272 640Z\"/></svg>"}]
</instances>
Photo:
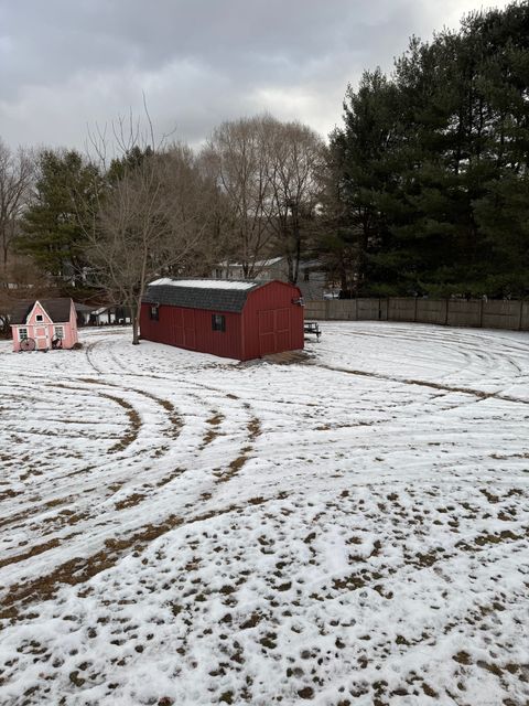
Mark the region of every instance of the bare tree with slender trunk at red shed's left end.
<instances>
[{"instance_id":1,"label":"bare tree with slender trunk at red shed's left end","mask_svg":"<svg viewBox=\"0 0 529 706\"><path fill-rule=\"evenodd\" d=\"M175 146L126 164L101 194L88 257L97 284L116 303L130 307L134 344L147 285L179 272L207 232L202 186L191 150Z\"/></svg>"}]
</instances>

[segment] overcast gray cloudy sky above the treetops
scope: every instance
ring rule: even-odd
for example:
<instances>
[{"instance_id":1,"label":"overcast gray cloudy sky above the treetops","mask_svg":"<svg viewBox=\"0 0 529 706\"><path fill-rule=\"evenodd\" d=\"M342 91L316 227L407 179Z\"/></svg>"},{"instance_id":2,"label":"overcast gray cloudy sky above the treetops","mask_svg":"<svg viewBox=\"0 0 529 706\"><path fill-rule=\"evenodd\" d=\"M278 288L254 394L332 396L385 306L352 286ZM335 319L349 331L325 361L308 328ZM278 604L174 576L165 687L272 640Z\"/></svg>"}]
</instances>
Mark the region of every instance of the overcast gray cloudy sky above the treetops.
<instances>
[{"instance_id":1,"label":"overcast gray cloudy sky above the treetops","mask_svg":"<svg viewBox=\"0 0 529 706\"><path fill-rule=\"evenodd\" d=\"M0 0L0 137L83 148L142 94L156 133L192 145L262 111L326 136L364 68L490 4L507 0Z\"/></svg>"}]
</instances>

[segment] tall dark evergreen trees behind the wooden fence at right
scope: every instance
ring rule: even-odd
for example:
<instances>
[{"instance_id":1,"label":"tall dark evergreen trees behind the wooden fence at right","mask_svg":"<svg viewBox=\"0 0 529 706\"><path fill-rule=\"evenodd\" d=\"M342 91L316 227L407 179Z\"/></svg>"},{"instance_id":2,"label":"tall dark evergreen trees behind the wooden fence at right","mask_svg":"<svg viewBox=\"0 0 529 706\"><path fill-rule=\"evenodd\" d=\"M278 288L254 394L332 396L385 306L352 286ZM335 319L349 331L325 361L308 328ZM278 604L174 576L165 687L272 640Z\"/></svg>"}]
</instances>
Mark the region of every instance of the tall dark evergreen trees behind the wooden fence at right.
<instances>
[{"instance_id":1,"label":"tall dark evergreen trees behind the wooden fence at right","mask_svg":"<svg viewBox=\"0 0 529 706\"><path fill-rule=\"evenodd\" d=\"M529 293L529 3L412 39L348 88L327 252L354 295Z\"/></svg>"}]
</instances>

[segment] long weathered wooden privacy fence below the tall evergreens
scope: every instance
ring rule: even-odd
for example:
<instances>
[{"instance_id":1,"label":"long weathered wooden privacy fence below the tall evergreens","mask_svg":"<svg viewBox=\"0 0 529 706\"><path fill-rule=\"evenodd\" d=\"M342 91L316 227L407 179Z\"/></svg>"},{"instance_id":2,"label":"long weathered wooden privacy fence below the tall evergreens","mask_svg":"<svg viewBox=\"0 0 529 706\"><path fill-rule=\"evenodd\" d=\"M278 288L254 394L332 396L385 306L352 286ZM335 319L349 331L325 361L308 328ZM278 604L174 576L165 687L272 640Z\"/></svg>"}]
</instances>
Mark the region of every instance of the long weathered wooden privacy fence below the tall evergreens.
<instances>
[{"instance_id":1,"label":"long weathered wooden privacy fence below the tall evergreens","mask_svg":"<svg viewBox=\"0 0 529 706\"><path fill-rule=\"evenodd\" d=\"M529 301L490 299L326 299L307 301L305 319L411 321L449 327L529 331Z\"/></svg>"}]
</instances>

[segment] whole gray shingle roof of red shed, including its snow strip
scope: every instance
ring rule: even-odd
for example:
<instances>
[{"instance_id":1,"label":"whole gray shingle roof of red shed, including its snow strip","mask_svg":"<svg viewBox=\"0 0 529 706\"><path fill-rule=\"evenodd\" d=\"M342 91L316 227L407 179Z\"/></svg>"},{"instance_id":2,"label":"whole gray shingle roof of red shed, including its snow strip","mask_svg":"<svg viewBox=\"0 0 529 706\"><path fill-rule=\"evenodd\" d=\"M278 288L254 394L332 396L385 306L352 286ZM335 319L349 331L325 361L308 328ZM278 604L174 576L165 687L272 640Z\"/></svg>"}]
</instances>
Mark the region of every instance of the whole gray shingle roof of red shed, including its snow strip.
<instances>
[{"instance_id":1,"label":"whole gray shingle roof of red shed, including its snow strip","mask_svg":"<svg viewBox=\"0 0 529 706\"><path fill-rule=\"evenodd\" d=\"M171 279L151 282L143 297L145 303L171 304L187 309L240 312L248 293L269 282L234 279Z\"/></svg>"}]
</instances>

